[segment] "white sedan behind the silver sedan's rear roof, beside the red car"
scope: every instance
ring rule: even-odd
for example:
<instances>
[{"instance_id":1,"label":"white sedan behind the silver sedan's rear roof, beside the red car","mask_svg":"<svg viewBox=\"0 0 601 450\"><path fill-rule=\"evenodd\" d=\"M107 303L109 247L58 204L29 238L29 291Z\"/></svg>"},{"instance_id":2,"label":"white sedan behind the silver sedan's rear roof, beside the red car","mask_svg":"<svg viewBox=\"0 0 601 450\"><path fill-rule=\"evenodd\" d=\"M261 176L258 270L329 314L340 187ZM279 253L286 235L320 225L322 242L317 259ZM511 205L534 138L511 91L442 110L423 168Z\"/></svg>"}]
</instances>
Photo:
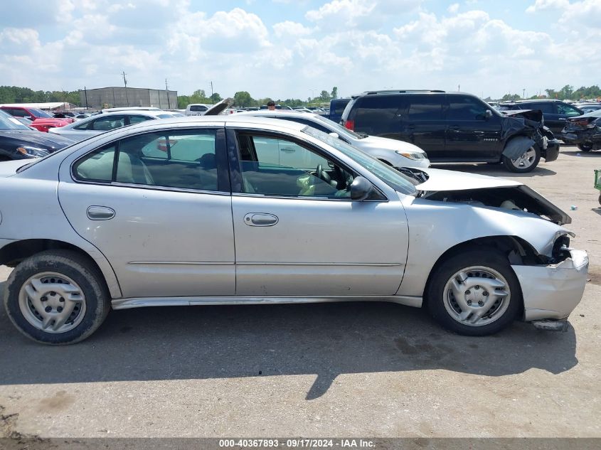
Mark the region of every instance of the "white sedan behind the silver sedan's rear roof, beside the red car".
<instances>
[{"instance_id":1,"label":"white sedan behind the silver sedan's rear roof, beside the red car","mask_svg":"<svg viewBox=\"0 0 601 450\"><path fill-rule=\"evenodd\" d=\"M126 109L123 111L104 112L85 119L78 120L65 127L48 129L48 133L60 134L74 141L83 141L97 134L109 132L112 129L125 127L126 125L139 124L153 119L170 119L181 116L179 113L148 109Z\"/></svg>"}]
</instances>

